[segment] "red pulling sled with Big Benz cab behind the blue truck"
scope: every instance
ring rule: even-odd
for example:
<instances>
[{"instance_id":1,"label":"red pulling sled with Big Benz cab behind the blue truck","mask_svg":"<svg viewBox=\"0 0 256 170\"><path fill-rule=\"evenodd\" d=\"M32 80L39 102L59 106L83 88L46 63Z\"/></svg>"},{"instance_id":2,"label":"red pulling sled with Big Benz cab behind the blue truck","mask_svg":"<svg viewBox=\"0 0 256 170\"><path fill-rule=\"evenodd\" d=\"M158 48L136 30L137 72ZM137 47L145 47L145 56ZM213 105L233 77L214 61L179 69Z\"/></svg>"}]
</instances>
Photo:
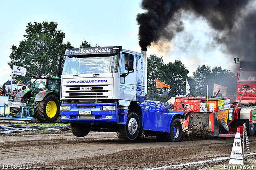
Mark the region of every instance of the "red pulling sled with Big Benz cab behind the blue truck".
<instances>
[{"instance_id":1,"label":"red pulling sled with Big Benz cab behind the blue truck","mask_svg":"<svg viewBox=\"0 0 256 170\"><path fill-rule=\"evenodd\" d=\"M238 60L234 60L235 62ZM249 135L256 131L256 61L240 61L237 99L225 97L175 97L174 110L184 111L184 130L209 136L235 136L246 124ZM243 130L240 130L243 133Z\"/></svg>"}]
</instances>

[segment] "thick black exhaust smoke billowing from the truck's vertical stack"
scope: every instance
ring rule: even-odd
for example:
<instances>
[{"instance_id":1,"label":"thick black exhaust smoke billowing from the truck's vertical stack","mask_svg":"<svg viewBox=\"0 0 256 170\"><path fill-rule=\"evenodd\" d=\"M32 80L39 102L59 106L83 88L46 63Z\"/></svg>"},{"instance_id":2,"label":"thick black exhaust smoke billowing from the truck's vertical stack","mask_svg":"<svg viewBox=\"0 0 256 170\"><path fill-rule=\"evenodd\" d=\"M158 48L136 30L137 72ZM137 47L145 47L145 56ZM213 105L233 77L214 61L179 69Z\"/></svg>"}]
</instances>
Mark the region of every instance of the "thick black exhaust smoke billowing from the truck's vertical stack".
<instances>
[{"instance_id":1,"label":"thick black exhaust smoke billowing from the truck's vertical stack","mask_svg":"<svg viewBox=\"0 0 256 170\"><path fill-rule=\"evenodd\" d=\"M238 56L243 55L241 51L248 51L248 43L250 48L254 47L252 51L256 52L256 20L248 19L252 18L255 11L248 14L244 10L250 2L254 0L142 0L141 8L146 12L138 14L136 18L139 24L139 45L142 50L146 50L152 42L172 40L177 32L184 29L181 14L193 13L207 20L216 30L217 42L225 44L229 53L235 49L232 54L237 51L240 52ZM243 34L253 37L250 40L254 42L248 42L247 39L246 45L243 45L241 39L238 40L245 39Z\"/></svg>"}]
</instances>

